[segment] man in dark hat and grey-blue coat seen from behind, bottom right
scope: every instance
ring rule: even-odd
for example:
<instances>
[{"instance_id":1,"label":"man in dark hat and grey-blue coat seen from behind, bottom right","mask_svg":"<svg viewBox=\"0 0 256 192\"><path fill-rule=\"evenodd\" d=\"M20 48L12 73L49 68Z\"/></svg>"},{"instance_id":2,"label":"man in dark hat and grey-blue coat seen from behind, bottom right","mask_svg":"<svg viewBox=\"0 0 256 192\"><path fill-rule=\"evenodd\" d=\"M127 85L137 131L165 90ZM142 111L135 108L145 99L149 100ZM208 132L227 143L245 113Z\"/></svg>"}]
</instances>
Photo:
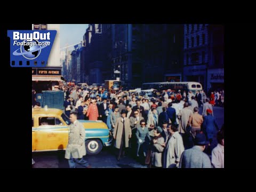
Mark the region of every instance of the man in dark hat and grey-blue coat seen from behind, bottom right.
<instances>
[{"instance_id":1,"label":"man in dark hat and grey-blue coat seen from behind, bottom right","mask_svg":"<svg viewBox=\"0 0 256 192\"><path fill-rule=\"evenodd\" d=\"M180 158L180 168L211 168L211 161L203 151L209 142L203 133L198 133L195 146L185 150Z\"/></svg>"}]
</instances>

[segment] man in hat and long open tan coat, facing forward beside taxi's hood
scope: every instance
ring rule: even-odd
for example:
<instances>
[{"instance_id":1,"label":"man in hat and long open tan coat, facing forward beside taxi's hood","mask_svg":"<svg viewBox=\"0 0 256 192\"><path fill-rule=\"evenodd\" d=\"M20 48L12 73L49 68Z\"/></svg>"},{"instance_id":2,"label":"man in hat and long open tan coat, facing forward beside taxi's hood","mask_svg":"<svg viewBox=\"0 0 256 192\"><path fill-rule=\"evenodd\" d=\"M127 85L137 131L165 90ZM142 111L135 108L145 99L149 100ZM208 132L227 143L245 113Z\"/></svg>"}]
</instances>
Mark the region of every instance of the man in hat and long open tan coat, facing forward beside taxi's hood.
<instances>
[{"instance_id":1,"label":"man in hat and long open tan coat, facing forward beside taxi's hood","mask_svg":"<svg viewBox=\"0 0 256 192\"><path fill-rule=\"evenodd\" d=\"M125 149L129 147L129 139L132 137L130 119L125 116L126 110L123 109L121 111L121 117L116 120L113 133L113 138L116 140L115 146L119 149L117 161L119 161L121 155L125 155Z\"/></svg>"}]
</instances>

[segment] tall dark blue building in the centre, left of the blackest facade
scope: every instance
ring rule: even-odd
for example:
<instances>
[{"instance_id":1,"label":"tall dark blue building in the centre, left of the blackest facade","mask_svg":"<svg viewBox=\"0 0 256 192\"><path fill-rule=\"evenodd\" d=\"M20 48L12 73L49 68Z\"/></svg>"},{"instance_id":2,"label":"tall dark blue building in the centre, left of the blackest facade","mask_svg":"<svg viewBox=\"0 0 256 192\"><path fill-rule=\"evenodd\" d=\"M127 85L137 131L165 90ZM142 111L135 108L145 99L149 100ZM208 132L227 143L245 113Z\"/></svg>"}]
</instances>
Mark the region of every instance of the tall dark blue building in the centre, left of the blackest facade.
<instances>
[{"instance_id":1,"label":"tall dark blue building in the centre, left of the blackest facade","mask_svg":"<svg viewBox=\"0 0 256 192\"><path fill-rule=\"evenodd\" d=\"M112 77L128 86L139 86L142 81L143 25L112 25Z\"/></svg>"}]
</instances>

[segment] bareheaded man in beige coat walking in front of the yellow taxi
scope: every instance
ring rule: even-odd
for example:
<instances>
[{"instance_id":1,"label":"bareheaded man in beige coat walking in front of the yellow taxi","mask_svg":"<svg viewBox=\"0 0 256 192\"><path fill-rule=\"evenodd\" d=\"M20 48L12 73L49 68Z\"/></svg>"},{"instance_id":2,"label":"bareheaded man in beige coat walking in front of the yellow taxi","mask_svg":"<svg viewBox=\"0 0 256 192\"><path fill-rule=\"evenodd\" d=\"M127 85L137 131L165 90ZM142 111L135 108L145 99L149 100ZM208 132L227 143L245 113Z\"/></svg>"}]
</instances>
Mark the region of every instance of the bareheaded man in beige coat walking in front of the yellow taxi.
<instances>
[{"instance_id":1,"label":"bareheaded man in beige coat walking in front of the yellow taxi","mask_svg":"<svg viewBox=\"0 0 256 192\"><path fill-rule=\"evenodd\" d=\"M77 121L77 113L70 113L68 145L65 153L65 158L69 159L70 168L76 168L76 164L90 168L89 163L83 158L86 155L85 149L85 130L82 123Z\"/></svg>"}]
</instances>

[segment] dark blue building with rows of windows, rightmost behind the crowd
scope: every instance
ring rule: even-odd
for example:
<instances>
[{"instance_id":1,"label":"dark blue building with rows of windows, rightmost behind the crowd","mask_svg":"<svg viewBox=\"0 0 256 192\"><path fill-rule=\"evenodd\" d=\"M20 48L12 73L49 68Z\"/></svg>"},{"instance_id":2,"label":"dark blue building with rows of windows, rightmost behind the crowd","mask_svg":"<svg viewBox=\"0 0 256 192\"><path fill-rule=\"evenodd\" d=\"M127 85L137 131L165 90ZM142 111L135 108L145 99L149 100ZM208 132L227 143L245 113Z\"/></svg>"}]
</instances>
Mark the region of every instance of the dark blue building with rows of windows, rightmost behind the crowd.
<instances>
[{"instance_id":1,"label":"dark blue building with rows of windows, rightmost behind the crowd","mask_svg":"<svg viewBox=\"0 0 256 192\"><path fill-rule=\"evenodd\" d=\"M195 81L209 91L224 84L224 31L221 25L184 25L184 81Z\"/></svg>"}]
</instances>

